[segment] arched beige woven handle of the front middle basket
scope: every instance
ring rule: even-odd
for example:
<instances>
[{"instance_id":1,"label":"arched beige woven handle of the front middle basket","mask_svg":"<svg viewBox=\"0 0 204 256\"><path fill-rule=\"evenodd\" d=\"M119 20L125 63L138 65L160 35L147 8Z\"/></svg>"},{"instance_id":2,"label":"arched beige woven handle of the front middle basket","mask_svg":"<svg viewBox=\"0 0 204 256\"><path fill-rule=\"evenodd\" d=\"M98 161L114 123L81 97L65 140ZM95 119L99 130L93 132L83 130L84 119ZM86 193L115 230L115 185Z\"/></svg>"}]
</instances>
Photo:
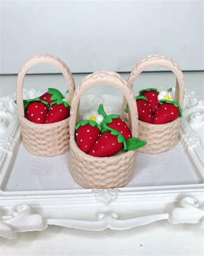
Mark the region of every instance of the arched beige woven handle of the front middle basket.
<instances>
[{"instance_id":1,"label":"arched beige woven handle of the front middle basket","mask_svg":"<svg viewBox=\"0 0 204 256\"><path fill-rule=\"evenodd\" d=\"M92 88L93 86L100 85L100 84L108 84L111 85L118 90L120 90L124 97L127 99L130 111L129 114L129 127L130 131L132 132L133 137L137 137L138 134L138 114L137 114L137 105L135 101L135 96L133 93L132 88L128 85L127 81L121 77L121 75L117 74L116 72L109 72L109 71L97 71L90 75L84 77L81 81L80 85L77 86L74 97L71 101L71 112L70 112L70 134L74 136L75 132L75 125L78 122L79 117L79 102L80 98L87 90Z\"/></svg>"}]
</instances>

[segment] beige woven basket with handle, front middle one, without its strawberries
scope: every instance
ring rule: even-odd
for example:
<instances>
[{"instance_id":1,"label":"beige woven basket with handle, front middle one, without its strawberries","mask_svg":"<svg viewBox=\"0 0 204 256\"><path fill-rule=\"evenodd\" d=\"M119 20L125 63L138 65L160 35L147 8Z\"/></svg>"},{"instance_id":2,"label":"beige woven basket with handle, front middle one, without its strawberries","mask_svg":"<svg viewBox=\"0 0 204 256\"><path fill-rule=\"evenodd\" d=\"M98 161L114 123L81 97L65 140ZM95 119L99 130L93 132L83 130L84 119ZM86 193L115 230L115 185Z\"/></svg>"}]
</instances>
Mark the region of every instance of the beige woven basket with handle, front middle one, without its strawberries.
<instances>
[{"instance_id":1,"label":"beige woven basket with handle, front middle one, without its strawberries","mask_svg":"<svg viewBox=\"0 0 204 256\"><path fill-rule=\"evenodd\" d=\"M112 157L93 157L81 151L74 139L78 122L79 101L84 92L99 84L109 84L121 90L130 107L129 125L133 137L138 135L138 115L134 93L127 81L115 72L98 71L86 76L72 99L70 115L70 168L75 181L85 188L108 189L123 187L134 172L136 150Z\"/></svg>"}]
</instances>

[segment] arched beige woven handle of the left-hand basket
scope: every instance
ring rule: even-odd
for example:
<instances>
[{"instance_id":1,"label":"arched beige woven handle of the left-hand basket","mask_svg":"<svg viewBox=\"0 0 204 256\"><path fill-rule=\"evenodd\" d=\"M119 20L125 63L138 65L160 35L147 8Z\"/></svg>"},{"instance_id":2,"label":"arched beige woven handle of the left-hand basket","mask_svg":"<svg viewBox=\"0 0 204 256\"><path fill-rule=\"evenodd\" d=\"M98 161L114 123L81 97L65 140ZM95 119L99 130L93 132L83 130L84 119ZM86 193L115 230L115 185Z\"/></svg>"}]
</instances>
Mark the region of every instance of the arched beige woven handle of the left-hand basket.
<instances>
[{"instance_id":1,"label":"arched beige woven handle of the left-hand basket","mask_svg":"<svg viewBox=\"0 0 204 256\"><path fill-rule=\"evenodd\" d=\"M36 55L30 58L25 64L23 64L21 70L19 71L17 84L16 84L16 101L17 101L17 110L19 115L24 117L24 107L23 107L23 81L27 71L34 65L38 63L49 63L57 67L65 77L66 83L68 85L68 90L70 93L70 98L72 99L75 90L74 77L68 69L67 65L61 59L52 55Z\"/></svg>"}]
</instances>

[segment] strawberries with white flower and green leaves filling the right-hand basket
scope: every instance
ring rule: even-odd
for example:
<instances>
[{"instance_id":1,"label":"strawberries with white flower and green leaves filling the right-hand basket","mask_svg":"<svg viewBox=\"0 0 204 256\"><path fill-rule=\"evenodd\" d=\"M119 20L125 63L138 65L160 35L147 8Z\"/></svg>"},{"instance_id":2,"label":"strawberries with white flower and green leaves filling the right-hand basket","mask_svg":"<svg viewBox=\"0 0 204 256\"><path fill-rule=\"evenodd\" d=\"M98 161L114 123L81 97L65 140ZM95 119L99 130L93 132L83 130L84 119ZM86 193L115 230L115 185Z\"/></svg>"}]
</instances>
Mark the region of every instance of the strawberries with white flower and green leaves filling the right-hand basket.
<instances>
[{"instance_id":1,"label":"strawberries with white flower and green leaves filling the right-hand basket","mask_svg":"<svg viewBox=\"0 0 204 256\"><path fill-rule=\"evenodd\" d=\"M135 99L138 119L143 122L160 125L182 117L181 107L173 101L172 88L161 92L155 88L140 90L139 96ZM126 112L128 112L128 106Z\"/></svg>"}]
</instances>

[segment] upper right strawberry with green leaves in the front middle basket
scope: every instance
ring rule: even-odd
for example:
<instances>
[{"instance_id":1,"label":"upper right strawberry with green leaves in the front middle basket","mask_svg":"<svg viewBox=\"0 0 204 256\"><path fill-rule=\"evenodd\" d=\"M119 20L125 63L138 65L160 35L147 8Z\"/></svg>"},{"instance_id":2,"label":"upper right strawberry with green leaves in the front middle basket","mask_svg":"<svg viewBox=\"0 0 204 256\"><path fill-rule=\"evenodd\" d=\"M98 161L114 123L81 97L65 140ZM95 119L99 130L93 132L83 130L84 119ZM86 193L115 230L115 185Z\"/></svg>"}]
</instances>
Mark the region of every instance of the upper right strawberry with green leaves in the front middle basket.
<instances>
[{"instance_id":1,"label":"upper right strawberry with green leaves in the front middle basket","mask_svg":"<svg viewBox=\"0 0 204 256\"><path fill-rule=\"evenodd\" d=\"M130 129L127 127L127 124L122 120L119 115L106 115L103 105L99 105L98 112L104 117L103 122L101 123L102 133L105 131L112 131L112 129L119 131L125 140L132 137ZM111 129L109 129L111 128Z\"/></svg>"}]
</instances>

